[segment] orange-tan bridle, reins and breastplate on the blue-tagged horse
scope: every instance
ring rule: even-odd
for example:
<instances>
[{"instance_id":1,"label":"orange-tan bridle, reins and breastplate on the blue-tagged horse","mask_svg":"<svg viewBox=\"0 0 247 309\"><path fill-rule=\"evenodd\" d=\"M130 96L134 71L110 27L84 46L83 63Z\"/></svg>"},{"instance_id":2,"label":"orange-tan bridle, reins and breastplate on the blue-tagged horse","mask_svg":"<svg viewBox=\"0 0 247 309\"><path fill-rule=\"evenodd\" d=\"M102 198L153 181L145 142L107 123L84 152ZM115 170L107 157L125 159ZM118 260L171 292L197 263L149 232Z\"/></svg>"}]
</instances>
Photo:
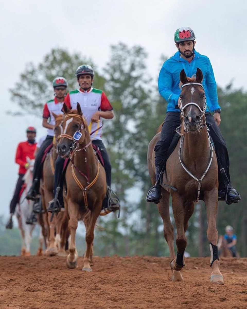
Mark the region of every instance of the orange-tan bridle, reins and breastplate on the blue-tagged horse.
<instances>
[{"instance_id":1,"label":"orange-tan bridle, reins and breastplate on the blue-tagged horse","mask_svg":"<svg viewBox=\"0 0 247 309\"><path fill-rule=\"evenodd\" d=\"M65 119L66 119L66 118L69 118L69 117L77 117L77 118L79 118L79 119L82 121L81 129L79 130L79 133L81 133L82 129L84 129L84 130L85 130L85 133L86 133L86 128L85 128L83 116L76 115L76 114L67 114L67 115L65 116ZM100 128L97 128L94 132L98 131L99 129L100 129ZM94 133L94 132L92 132L92 133ZM91 133L91 134L92 134L92 133ZM88 164L87 164L87 158L85 157L87 175L85 175L81 170L79 170L78 167L75 166L75 163L74 163L73 158L74 158L74 156L76 155L77 151L81 151L81 150L84 150L85 152L87 151L87 148L88 148L88 147L90 146L90 144L92 143L91 139L90 139L90 142L89 142L86 146L84 146L84 147L82 147L82 148L80 148L80 149L77 149L77 148L79 147L79 145L82 144L82 143L84 142L84 140L83 140L82 143L80 143L79 140L78 140L78 141L75 140L75 139L73 138L73 136L71 136L71 135L69 135L69 134L61 134L61 135L59 136L59 139L62 138L62 137L67 138L67 139L73 141L72 151L71 151L71 153L70 153L70 155L69 155L69 159L70 159L70 161L71 161L71 163L72 163L72 176L73 176L73 179L75 180L75 182L77 183L78 187L82 190L82 194L83 194L83 198L84 198L84 203L85 203L85 208L87 209L87 208L88 208L88 201L87 201L87 193L86 193L86 191L87 191L90 187L92 187L92 186L95 184L96 180L98 179L98 176L99 176L99 165L100 165L99 160L98 160L98 170L97 170L97 174L96 174L94 180L90 183L90 182L89 182L89 181L90 181L90 175L89 175L89 167L88 167ZM83 187L83 185L81 184L80 180L77 178L77 176L76 176L76 174L75 174L75 169L76 169L83 177L85 177L85 179L86 179L86 181L87 181L87 186L86 186L86 187Z\"/></svg>"}]
</instances>

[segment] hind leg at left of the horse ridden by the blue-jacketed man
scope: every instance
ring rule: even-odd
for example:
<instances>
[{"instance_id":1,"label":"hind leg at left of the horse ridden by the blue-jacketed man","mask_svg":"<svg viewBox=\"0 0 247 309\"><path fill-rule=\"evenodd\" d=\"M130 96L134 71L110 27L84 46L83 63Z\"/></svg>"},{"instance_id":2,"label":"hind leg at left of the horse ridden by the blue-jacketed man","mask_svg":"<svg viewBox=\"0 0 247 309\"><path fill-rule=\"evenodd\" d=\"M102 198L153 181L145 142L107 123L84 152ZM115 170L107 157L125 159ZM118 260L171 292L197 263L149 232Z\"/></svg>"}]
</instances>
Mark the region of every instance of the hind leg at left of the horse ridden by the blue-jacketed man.
<instances>
[{"instance_id":1,"label":"hind leg at left of the horse ridden by the blue-jacketed man","mask_svg":"<svg viewBox=\"0 0 247 309\"><path fill-rule=\"evenodd\" d=\"M169 197L170 193L167 192L165 189L162 190L162 198L160 203L158 204L158 210L163 220L164 225L164 237L168 244L169 252L170 252L170 259L171 262L175 260L175 251L174 251L174 228L171 224L170 220L170 211L169 211ZM172 281L183 281L182 273L179 270L172 269Z\"/></svg>"}]
</instances>

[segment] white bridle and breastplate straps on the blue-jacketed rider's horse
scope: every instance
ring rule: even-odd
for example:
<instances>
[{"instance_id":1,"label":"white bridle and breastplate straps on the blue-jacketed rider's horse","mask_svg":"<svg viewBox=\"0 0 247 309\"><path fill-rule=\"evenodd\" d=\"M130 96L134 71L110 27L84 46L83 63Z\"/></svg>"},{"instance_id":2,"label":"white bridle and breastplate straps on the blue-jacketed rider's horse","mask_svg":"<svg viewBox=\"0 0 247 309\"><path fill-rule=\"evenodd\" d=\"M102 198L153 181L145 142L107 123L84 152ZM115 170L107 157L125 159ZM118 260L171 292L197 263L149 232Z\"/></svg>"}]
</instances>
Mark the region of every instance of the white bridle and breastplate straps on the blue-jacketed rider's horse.
<instances>
[{"instance_id":1,"label":"white bridle and breastplate straps on the blue-jacketed rider's horse","mask_svg":"<svg viewBox=\"0 0 247 309\"><path fill-rule=\"evenodd\" d=\"M194 82L191 82L191 83L186 83L186 84L183 84L182 85L182 88L185 87L185 86L191 86L191 85L199 85L203 88L203 85L201 83L194 83ZM203 88L204 90L204 88ZM206 98L204 100L204 104L203 104L203 109L200 108L200 106L195 103L195 102L190 102L190 103L187 103L185 104L184 106L182 106L182 98L180 97L180 110L181 110L181 116L183 118L183 124L184 124L184 132L188 132L188 129L187 129L187 126L184 122L184 109L187 107L187 106L190 106L190 105L194 105L196 106L199 111L201 112L201 116L200 116L200 121L199 121L199 129L198 129L198 132L201 131L201 129L206 125L206 117L205 117L205 122L203 124L203 117L205 116L205 112L206 112L206 108L207 108L207 103L206 103ZM209 137L209 134L207 132L207 136L208 136L208 139L209 139L209 144L210 144L210 158L209 158L209 161L207 163L207 167L206 167L206 170L204 171L203 175L201 176L200 179L196 178L188 169L187 167L185 166L185 164L183 163L182 161L182 158L181 158L181 147L182 147L182 143L183 143L183 140L184 140L184 134L182 134L181 132L179 132L179 128L182 126L182 124L176 129L176 132L181 135L181 139L180 139L180 147L179 147L179 150L178 150L178 157L179 157L179 161L183 167L183 169L187 172L187 174L189 174L193 179L195 179L197 182L198 182L198 191L197 191L197 200L199 200L199 197L200 197L200 190L201 190L201 184L202 184L202 180L203 178L205 177L205 175L207 174L210 166L211 166L211 163L212 163L212 160L213 160L213 146L212 146L212 143L211 143L211 140L210 140L210 137ZM207 129L208 130L208 129Z\"/></svg>"}]
</instances>

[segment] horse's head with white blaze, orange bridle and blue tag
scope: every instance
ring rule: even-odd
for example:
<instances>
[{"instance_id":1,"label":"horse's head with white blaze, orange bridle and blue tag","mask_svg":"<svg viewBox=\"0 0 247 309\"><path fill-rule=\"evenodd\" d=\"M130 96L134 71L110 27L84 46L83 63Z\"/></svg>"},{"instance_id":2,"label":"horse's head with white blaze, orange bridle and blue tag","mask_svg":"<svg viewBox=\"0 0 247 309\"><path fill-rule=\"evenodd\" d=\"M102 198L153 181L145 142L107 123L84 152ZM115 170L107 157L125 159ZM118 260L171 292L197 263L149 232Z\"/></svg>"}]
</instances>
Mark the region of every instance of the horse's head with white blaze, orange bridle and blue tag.
<instances>
[{"instance_id":1,"label":"horse's head with white blaze, orange bridle and blue tag","mask_svg":"<svg viewBox=\"0 0 247 309\"><path fill-rule=\"evenodd\" d=\"M78 144L82 144L86 138L87 124L82 115L80 104L77 103L77 109L70 110L66 104L63 105L65 113L62 134L57 144L58 154L62 158L68 157L71 150Z\"/></svg>"}]
</instances>

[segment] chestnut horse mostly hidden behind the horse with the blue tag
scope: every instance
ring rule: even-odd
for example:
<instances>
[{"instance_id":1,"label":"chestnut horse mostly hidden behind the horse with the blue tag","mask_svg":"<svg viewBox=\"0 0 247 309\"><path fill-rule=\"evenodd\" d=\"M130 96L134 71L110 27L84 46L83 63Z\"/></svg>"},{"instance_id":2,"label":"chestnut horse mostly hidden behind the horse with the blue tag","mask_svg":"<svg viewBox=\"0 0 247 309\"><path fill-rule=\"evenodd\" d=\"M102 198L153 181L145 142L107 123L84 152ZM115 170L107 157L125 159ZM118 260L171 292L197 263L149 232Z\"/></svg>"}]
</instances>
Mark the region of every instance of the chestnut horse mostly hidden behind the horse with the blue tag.
<instances>
[{"instance_id":1,"label":"chestnut horse mostly hidden behind the horse with the blue tag","mask_svg":"<svg viewBox=\"0 0 247 309\"><path fill-rule=\"evenodd\" d=\"M55 128L54 128L54 140L53 147L50 150L49 154L44 160L43 165L43 185L41 186L41 197L42 197L42 206L45 210L45 214L43 215L45 225L48 227L48 246L45 254L48 256L61 255L65 256L65 231L66 230L66 214L65 212L59 212L54 216L51 221L51 213L47 213L47 205L48 202L53 199L53 176L54 176L54 166L57 159L57 138L62 133L62 120L63 115L56 115L52 113L55 118ZM65 226L62 229L62 226ZM56 237L55 237L56 232ZM61 239L62 236L62 239Z\"/></svg>"}]
</instances>

